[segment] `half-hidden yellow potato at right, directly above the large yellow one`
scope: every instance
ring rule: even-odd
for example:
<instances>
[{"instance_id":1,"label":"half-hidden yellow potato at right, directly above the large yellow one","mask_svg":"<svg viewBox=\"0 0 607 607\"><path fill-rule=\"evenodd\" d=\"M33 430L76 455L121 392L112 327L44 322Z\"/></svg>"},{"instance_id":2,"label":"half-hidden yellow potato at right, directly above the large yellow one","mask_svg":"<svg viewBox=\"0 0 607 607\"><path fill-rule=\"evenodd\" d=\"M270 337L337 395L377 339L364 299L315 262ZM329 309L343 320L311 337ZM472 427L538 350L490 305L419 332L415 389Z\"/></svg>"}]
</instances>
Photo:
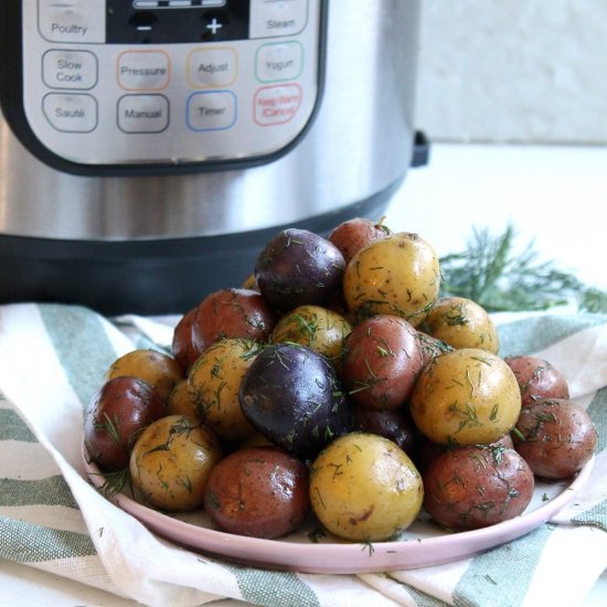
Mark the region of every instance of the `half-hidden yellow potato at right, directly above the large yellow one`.
<instances>
[{"instance_id":1,"label":"half-hidden yellow potato at right, directly above the large yellow one","mask_svg":"<svg viewBox=\"0 0 607 607\"><path fill-rule=\"evenodd\" d=\"M452 348L479 348L497 354L498 331L484 308L465 297L438 299L424 321L427 332Z\"/></svg>"}]
</instances>

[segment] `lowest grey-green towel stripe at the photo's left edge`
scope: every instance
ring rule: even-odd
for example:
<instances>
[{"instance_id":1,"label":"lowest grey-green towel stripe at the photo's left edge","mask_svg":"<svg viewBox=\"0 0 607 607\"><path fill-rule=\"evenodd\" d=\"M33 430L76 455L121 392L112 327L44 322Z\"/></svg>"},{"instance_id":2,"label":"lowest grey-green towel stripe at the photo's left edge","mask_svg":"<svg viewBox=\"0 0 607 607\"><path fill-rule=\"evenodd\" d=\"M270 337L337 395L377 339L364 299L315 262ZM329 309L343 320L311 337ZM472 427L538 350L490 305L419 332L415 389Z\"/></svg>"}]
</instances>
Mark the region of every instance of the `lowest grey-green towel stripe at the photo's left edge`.
<instances>
[{"instance_id":1,"label":"lowest grey-green towel stripe at the photo's left edge","mask_svg":"<svg viewBox=\"0 0 607 607\"><path fill-rule=\"evenodd\" d=\"M42 563L95 554L93 541L84 533L47 529L0 517L0 558L17 563Z\"/></svg>"}]
</instances>

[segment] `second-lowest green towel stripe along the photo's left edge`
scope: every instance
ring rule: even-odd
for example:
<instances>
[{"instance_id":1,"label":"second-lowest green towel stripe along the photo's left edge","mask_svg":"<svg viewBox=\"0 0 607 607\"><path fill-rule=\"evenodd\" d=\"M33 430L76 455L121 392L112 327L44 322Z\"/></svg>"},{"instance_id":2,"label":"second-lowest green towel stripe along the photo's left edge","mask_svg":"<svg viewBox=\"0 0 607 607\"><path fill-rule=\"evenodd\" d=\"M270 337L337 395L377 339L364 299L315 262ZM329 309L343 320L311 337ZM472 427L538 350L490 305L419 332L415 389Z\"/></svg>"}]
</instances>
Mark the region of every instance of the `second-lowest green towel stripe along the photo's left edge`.
<instances>
[{"instance_id":1,"label":"second-lowest green towel stripe along the photo's left edge","mask_svg":"<svg viewBox=\"0 0 607 607\"><path fill-rule=\"evenodd\" d=\"M61 476L42 480L0 479L0 507L65 505L77 509L70 487Z\"/></svg>"}]
</instances>

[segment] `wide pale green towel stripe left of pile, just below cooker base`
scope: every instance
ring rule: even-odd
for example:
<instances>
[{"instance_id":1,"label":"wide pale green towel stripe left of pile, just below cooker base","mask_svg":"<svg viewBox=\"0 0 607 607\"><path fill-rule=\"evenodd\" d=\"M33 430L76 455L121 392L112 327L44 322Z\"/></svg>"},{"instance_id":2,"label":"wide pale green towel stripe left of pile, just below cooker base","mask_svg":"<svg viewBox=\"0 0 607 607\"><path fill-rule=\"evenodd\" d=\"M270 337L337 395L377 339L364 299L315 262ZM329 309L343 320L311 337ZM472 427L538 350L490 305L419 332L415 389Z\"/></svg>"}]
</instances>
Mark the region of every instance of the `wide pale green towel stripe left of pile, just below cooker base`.
<instances>
[{"instance_id":1,"label":"wide pale green towel stripe left of pile, just below cooker base","mask_svg":"<svg viewBox=\"0 0 607 607\"><path fill-rule=\"evenodd\" d=\"M76 306L45 303L40 305L39 310L67 381L86 406L116 360L100 318Z\"/></svg>"}]
</instances>

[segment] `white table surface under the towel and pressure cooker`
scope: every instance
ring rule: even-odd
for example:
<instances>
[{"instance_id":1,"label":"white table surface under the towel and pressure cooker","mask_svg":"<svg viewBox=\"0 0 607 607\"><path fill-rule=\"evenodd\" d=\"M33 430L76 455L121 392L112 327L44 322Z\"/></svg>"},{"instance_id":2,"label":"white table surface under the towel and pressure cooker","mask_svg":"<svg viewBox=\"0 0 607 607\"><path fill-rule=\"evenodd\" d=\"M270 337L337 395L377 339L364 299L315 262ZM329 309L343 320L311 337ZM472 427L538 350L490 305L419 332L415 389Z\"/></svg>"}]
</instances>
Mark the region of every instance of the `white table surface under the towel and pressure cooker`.
<instances>
[{"instance_id":1,"label":"white table surface under the towel and pressure cooker","mask_svg":"<svg viewBox=\"0 0 607 607\"><path fill-rule=\"evenodd\" d=\"M461 251L472 225L501 234L511 221L522 245L588 285L607 289L607 148L434 145L411 170L386 223L417 232L438 255ZM552 601L557 605L557 599ZM126 607L136 603L0 560L0 607ZM244 605L224 600L221 607ZM607 572L581 606L607 605Z\"/></svg>"}]
</instances>

